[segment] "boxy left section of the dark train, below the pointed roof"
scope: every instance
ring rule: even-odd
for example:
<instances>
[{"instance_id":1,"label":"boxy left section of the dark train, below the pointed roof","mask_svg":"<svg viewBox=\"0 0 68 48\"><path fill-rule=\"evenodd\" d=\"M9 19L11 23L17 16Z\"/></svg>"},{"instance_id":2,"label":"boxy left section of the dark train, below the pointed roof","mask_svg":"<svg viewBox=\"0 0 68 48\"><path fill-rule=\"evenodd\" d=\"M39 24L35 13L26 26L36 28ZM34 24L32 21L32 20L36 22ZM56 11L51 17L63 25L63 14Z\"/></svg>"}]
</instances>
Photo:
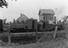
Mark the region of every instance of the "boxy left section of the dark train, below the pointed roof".
<instances>
[{"instance_id":1,"label":"boxy left section of the dark train, below the pointed roof","mask_svg":"<svg viewBox=\"0 0 68 48\"><path fill-rule=\"evenodd\" d=\"M10 32L35 32L37 29L37 20L28 19L24 23L16 23L11 25Z\"/></svg>"}]
</instances>

